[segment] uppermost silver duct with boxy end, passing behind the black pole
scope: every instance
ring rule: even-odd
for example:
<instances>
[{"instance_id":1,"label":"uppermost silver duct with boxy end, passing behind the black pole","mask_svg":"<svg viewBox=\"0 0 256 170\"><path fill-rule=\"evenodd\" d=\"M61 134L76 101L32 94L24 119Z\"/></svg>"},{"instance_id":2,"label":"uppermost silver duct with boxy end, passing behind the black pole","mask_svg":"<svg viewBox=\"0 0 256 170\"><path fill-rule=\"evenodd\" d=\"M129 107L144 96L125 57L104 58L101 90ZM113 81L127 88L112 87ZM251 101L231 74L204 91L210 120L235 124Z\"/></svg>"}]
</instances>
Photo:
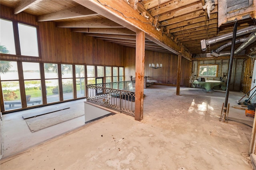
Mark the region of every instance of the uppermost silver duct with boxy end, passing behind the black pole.
<instances>
[{"instance_id":1,"label":"uppermost silver duct with boxy end, passing behind the black pole","mask_svg":"<svg viewBox=\"0 0 256 170\"><path fill-rule=\"evenodd\" d=\"M246 28L238 30L236 32L236 36L241 36L241 35L248 34L248 33L254 32L254 31L256 31L256 26L246 27ZM233 36L233 33L231 32L231 33L228 33L228 34L224 34L222 36L211 38L209 40L201 40L202 51L206 51L206 45L210 45L210 44L213 44L213 43L228 40L228 39L232 38L232 36Z\"/></svg>"}]
</instances>

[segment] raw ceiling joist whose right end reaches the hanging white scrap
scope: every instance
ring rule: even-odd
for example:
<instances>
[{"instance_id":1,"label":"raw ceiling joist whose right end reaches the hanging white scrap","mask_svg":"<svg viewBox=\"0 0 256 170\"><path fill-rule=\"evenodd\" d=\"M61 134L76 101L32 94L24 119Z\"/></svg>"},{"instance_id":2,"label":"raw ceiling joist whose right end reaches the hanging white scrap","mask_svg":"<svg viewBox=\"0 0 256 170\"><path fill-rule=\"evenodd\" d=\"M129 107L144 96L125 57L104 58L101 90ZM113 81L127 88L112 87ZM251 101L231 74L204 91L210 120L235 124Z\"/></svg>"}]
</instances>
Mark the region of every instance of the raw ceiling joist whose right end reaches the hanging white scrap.
<instances>
[{"instance_id":1,"label":"raw ceiling joist whose right end reaches the hanging white scrap","mask_svg":"<svg viewBox=\"0 0 256 170\"><path fill-rule=\"evenodd\" d=\"M158 21L162 22L164 20L170 20L171 18L175 18L178 16L196 12L197 10L200 10L200 9L202 9L202 3L197 3L194 5L188 6L186 8L182 8L182 9L172 10L172 11L167 12L166 14L160 15L158 17Z\"/></svg>"}]
</instances>

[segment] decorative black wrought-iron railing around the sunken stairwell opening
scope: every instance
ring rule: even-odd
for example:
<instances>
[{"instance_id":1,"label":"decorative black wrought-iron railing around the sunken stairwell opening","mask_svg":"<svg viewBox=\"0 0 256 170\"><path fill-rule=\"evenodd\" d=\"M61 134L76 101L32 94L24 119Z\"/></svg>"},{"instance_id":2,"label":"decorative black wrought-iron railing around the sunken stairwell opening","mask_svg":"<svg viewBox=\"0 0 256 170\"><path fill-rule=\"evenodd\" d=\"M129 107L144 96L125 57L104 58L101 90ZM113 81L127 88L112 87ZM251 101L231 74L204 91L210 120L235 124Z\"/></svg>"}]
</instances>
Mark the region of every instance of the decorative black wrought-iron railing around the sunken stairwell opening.
<instances>
[{"instance_id":1,"label":"decorative black wrought-iron railing around the sunken stairwell opening","mask_svg":"<svg viewBox=\"0 0 256 170\"><path fill-rule=\"evenodd\" d=\"M134 116L135 81L86 85L87 101Z\"/></svg>"}]
</instances>

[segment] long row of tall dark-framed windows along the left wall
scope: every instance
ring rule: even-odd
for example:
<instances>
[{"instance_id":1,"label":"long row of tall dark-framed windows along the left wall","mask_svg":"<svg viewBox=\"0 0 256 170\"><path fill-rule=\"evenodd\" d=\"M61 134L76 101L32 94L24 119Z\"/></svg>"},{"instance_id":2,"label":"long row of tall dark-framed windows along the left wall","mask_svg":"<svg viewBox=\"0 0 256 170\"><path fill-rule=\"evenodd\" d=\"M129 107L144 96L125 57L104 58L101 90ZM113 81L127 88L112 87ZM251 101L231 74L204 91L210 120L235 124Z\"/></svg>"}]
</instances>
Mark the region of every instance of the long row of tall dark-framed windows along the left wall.
<instances>
[{"instance_id":1,"label":"long row of tall dark-framed windows along the left wall","mask_svg":"<svg viewBox=\"0 0 256 170\"><path fill-rule=\"evenodd\" d=\"M85 97L86 79L88 85L123 81L124 67L1 60L1 109L10 111ZM111 88L122 87L114 84Z\"/></svg>"}]
</instances>

